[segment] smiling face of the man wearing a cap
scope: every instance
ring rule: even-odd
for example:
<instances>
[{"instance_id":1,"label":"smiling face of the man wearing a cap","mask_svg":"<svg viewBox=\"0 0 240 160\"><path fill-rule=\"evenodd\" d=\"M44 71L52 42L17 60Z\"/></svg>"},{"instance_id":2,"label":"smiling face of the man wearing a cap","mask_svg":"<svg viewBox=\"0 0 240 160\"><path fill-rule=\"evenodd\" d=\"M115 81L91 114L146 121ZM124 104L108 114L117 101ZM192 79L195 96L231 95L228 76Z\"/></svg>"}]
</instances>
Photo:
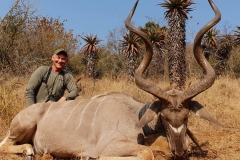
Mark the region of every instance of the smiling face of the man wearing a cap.
<instances>
[{"instance_id":1,"label":"smiling face of the man wearing a cap","mask_svg":"<svg viewBox=\"0 0 240 160\"><path fill-rule=\"evenodd\" d=\"M53 66L56 69L63 69L68 62L68 57L65 54L59 53L52 56Z\"/></svg>"}]
</instances>

